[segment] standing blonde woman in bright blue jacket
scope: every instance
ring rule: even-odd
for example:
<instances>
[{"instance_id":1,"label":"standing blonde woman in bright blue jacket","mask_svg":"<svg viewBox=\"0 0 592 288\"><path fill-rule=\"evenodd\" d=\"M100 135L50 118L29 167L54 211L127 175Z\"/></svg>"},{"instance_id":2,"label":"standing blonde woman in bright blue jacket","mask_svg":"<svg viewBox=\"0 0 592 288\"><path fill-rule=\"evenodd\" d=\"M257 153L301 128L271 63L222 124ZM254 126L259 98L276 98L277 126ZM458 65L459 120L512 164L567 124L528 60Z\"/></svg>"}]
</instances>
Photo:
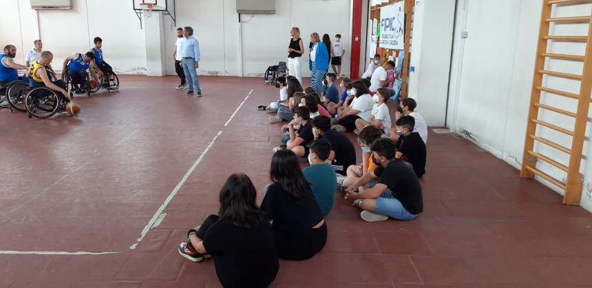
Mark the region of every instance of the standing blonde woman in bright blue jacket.
<instances>
[{"instance_id":1,"label":"standing blonde woman in bright blue jacket","mask_svg":"<svg viewBox=\"0 0 592 288\"><path fill-rule=\"evenodd\" d=\"M308 68L312 72L310 84L317 94L321 94L324 86L323 79L329 69L329 53L317 32L310 34L310 41L313 43L313 48L310 50L310 59L308 60Z\"/></svg>"}]
</instances>

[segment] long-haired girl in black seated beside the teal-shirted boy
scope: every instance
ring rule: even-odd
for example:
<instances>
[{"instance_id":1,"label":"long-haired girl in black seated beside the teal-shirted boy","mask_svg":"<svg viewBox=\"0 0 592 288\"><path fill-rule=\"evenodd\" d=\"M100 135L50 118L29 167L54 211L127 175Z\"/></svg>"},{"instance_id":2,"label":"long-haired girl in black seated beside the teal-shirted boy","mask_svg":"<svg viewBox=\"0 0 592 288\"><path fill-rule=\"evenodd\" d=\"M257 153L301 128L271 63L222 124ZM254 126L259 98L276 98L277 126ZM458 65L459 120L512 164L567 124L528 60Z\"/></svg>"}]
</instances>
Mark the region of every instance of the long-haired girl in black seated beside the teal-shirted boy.
<instances>
[{"instance_id":1,"label":"long-haired girl in black seated beside the teal-shirted boy","mask_svg":"<svg viewBox=\"0 0 592 288\"><path fill-rule=\"evenodd\" d=\"M266 212L279 258L305 260L327 242L327 225L304 178L296 154L278 150L271 158L271 185L261 203Z\"/></svg>"}]
</instances>

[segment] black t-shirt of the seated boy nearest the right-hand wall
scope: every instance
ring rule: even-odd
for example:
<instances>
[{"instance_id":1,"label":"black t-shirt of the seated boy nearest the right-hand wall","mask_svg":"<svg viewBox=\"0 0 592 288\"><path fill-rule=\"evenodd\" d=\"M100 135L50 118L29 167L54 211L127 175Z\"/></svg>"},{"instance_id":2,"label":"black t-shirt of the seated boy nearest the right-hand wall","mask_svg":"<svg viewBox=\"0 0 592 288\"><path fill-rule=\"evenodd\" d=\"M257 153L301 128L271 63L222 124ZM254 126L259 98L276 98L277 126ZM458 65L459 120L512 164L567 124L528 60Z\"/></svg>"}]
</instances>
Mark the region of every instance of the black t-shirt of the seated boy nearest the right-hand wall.
<instances>
[{"instance_id":1,"label":"black t-shirt of the seated boy nearest the right-hand wall","mask_svg":"<svg viewBox=\"0 0 592 288\"><path fill-rule=\"evenodd\" d=\"M397 151L403 153L403 160L413 165L413 171L417 178L425 174L425 143L419 136L419 133L413 132L409 136L399 137L397 141Z\"/></svg>"}]
</instances>

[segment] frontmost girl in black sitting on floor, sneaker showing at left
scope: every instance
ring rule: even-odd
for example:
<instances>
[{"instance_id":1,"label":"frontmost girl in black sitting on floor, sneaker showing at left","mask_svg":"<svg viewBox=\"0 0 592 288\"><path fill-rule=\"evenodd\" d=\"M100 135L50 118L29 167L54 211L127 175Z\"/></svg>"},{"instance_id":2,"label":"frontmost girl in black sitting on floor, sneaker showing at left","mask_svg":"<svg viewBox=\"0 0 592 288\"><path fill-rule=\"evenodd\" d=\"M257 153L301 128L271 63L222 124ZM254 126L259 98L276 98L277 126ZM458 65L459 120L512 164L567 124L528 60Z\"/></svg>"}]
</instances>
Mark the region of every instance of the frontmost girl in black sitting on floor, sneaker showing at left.
<instances>
[{"instance_id":1,"label":"frontmost girl in black sitting on floor, sneaker showing at left","mask_svg":"<svg viewBox=\"0 0 592 288\"><path fill-rule=\"evenodd\" d=\"M279 269L269 220L257 205L249 176L232 174L220 190L220 212L187 232L179 253L200 262L213 256L216 274L229 287L268 287Z\"/></svg>"}]
</instances>

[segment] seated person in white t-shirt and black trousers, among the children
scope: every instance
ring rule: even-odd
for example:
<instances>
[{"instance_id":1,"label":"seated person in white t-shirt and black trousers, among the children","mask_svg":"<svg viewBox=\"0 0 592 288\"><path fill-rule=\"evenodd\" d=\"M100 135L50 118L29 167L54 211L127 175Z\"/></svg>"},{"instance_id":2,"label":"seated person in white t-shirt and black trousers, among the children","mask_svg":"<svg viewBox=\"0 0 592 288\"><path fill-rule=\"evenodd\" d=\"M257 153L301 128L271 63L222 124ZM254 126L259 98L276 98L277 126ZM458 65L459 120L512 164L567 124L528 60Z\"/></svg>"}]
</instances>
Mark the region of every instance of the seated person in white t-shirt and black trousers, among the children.
<instances>
[{"instance_id":1,"label":"seated person in white t-shirt and black trousers, among the children","mask_svg":"<svg viewBox=\"0 0 592 288\"><path fill-rule=\"evenodd\" d=\"M335 125L334 128L339 132L354 131L357 119L370 121L370 114L372 113L372 107L374 107L374 100L370 96L370 90L363 81L356 80L352 82L352 93L355 99L337 116L339 125Z\"/></svg>"}]
</instances>

